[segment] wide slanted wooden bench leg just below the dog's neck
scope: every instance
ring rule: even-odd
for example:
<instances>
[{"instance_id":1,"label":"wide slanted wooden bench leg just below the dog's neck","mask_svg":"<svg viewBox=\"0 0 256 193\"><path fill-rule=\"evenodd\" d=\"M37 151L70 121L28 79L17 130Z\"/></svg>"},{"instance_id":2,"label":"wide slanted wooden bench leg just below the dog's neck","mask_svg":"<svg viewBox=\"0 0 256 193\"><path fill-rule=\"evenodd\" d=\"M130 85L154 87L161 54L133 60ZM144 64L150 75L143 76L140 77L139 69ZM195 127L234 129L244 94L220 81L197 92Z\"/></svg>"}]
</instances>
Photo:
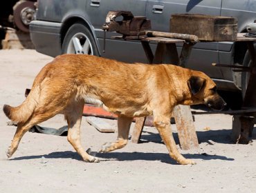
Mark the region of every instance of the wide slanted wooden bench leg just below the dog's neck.
<instances>
[{"instance_id":1,"label":"wide slanted wooden bench leg just below the dog's neck","mask_svg":"<svg viewBox=\"0 0 256 193\"><path fill-rule=\"evenodd\" d=\"M199 142L196 136L196 129L194 128L190 106L177 105L174 108L173 114L181 149L190 150L192 148L199 148Z\"/></svg>"}]
</instances>

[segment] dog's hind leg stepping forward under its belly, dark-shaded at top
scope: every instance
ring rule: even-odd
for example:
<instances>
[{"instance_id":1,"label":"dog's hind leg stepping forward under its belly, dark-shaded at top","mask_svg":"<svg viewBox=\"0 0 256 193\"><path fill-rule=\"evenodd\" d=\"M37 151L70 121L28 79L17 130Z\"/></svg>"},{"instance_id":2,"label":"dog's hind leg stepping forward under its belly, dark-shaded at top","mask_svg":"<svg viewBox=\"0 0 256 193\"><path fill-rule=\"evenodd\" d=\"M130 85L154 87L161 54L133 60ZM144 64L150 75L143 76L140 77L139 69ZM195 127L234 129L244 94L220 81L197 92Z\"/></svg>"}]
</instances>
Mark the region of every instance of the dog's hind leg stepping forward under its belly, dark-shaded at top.
<instances>
[{"instance_id":1,"label":"dog's hind leg stepping forward under its belly, dark-shaded at top","mask_svg":"<svg viewBox=\"0 0 256 193\"><path fill-rule=\"evenodd\" d=\"M82 111L84 101L73 103L65 111L65 118L68 122L68 142L71 143L75 151L87 162L98 162L98 158L87 154L82 148L80 141L80 125L82 121Z\"/></svg>"}]
</instances>

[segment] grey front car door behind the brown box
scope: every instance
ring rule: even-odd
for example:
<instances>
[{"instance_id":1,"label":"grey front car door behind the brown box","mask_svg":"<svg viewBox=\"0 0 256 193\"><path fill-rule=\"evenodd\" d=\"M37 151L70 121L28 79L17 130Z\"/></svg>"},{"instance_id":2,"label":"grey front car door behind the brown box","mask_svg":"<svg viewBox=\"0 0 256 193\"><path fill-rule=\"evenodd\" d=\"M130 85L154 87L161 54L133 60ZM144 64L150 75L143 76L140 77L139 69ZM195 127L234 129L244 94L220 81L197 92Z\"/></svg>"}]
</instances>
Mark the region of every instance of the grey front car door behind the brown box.
<instances>
[{"instance_id":1,"label":"grey front car door behind the brown box","mask_svg":"<svg viewBox=\"0 0 256 193\"><path fill-rule=\"evenodd\" d=\"M170 32L170 16L179 13L219 16L221 14L221 0L147 1L146 16L152 21L152 30ZM185 23L181 23L181 25L185 25ZM218 43L196 43L186 67L201 70L212 78L222 79L220 68L212 67L212 63L218 62Z\"/></svg>"}]
</instances>

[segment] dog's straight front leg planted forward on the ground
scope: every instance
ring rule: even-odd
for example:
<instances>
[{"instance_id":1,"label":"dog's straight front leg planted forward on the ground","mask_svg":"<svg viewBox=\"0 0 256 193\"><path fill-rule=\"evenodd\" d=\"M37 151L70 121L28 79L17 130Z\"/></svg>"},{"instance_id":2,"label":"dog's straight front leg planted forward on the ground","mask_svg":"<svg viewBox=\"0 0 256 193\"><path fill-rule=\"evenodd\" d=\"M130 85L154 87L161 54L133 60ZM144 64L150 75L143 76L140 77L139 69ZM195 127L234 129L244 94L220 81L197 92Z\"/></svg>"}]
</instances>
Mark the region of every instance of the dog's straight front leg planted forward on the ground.
<instances>
[{"instance_id":1,"label":"dog's straight front leg planted forward on the ground","mask_svg":"<svg viewBox=\"0 0 256 193\"><path fill-rule=\"evenodd\" d=\"M154 125L156 126L163 142L165 143L167 150L169 151L170 156L176 162L187 165L195 164L194 161L190 159L185 159L176 148L176 143L172 135L172 128L170 123L170 117L163 118L163 116L154 117Z\"/></svg>"}]
</instances>

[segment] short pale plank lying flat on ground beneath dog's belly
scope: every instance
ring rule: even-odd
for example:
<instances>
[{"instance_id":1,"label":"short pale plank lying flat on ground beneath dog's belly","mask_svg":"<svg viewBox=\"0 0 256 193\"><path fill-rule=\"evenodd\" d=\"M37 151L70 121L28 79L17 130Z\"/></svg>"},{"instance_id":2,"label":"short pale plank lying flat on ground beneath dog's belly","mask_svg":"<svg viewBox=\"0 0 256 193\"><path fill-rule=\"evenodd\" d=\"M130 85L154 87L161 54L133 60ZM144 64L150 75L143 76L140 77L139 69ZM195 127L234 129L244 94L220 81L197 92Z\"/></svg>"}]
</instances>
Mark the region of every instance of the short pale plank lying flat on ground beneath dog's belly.
<instances>
[{"instance_id":1,"label":"short pale plank lying flat on ground beneath dog's belly","mask_svg":"<svg viewBox=\"0 0 256 193\"><path fill-rule=\"evenodd\" d=\"M93 125L93 127L96 128L99 132L115 132L112 125L110 125L106 121L103 121L100 118L88 116L86 117L86 121L90 125Z\"/></svg>"}]
</instances>

